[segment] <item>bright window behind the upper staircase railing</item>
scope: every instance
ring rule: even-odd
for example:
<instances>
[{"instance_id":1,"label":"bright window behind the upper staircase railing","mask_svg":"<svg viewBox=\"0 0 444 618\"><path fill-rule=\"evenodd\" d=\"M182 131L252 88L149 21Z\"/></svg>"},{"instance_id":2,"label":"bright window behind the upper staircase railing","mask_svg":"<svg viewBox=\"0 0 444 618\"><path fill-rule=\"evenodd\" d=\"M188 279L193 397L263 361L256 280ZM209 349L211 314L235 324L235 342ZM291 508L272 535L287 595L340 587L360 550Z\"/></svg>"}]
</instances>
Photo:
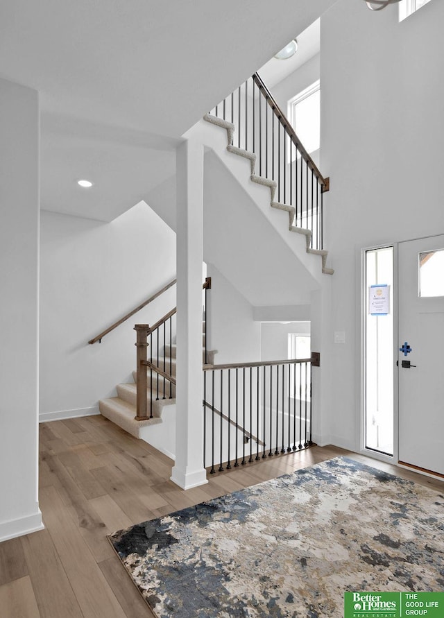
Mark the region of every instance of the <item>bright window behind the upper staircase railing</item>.
<instances>
[{"instance_id":1,"label":"bright window behind the upper staircase railing","mask_svg":"<svg viewBox=\"0 0 444 618\"><path fill-rule=\"evenodd\" d=\"M289 119L302 145L309 152L321 143L321 87L319 80L289 101Z\"/></svg>"}]
</instances>

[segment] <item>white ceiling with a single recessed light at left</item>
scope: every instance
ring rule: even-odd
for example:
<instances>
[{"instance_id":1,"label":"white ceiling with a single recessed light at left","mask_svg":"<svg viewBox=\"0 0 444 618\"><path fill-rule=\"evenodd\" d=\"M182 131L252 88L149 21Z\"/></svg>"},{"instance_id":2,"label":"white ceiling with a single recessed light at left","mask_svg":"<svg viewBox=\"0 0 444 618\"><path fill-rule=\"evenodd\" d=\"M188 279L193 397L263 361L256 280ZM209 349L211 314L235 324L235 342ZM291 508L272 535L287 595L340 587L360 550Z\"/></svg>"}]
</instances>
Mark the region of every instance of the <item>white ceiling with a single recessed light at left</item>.
<instances>
[{"instance_id":1,"label":"white ceiling with a single recessed light at left","mask_svg":"<svg viewBox=\"0 0 444 618\"><path fill-rule=\"evenodd\" d=\"M0 77L40 91L42 207L110 221L137 203L176 140L334 1L2 2Z\"/></svg>"}]
</instances>

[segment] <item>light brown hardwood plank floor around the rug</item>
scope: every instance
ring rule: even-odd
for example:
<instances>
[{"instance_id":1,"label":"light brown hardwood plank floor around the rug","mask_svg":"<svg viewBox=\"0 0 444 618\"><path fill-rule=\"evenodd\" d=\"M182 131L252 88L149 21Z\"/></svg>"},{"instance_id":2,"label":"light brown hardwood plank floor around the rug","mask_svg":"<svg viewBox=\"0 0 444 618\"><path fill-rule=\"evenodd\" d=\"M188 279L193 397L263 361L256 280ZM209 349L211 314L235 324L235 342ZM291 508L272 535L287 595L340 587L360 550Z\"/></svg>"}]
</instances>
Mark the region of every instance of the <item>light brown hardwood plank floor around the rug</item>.
<instances>
[{"instance_id":1,"label":"light brown hardwood plank floor around the rug","mask_svg":"<svg viewBox=\"0 0 444 618\"><path fill-rule=\"evenodd\" d=\"M0 617L151 618L106 535L343 454L312 447L273 456L185 492L169 481L169 458L101 416L43 423L45 529L0 544ZM443 490L443 481L351 456Z\"/></svg>"}]
</instances>

